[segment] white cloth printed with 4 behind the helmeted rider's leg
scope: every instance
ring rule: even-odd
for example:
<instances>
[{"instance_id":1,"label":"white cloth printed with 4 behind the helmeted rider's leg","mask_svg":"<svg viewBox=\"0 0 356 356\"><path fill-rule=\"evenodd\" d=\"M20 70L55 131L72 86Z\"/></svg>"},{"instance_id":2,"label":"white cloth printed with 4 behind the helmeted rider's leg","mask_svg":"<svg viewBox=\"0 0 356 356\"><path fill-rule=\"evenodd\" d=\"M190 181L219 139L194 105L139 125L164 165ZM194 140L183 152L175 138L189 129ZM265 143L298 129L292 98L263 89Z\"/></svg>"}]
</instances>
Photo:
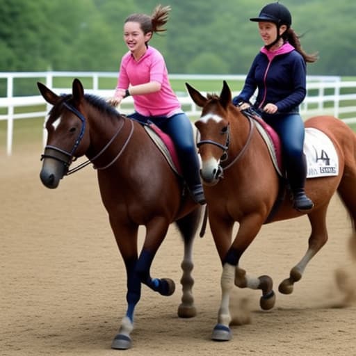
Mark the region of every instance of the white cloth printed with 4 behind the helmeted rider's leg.
<instances>
[{"instance_id":1,"label":"white cloth printed with 4 behind the helmeted rider's leg","mask_svg":"<svg viewBox=\"0 0 356 356\"><path fill-rule=\"evenodd\" d=\"M312 127L305 129L304 153L307 156L307 178L339 174L339 157L323 131Z\"/></svg>"}]
</instances>

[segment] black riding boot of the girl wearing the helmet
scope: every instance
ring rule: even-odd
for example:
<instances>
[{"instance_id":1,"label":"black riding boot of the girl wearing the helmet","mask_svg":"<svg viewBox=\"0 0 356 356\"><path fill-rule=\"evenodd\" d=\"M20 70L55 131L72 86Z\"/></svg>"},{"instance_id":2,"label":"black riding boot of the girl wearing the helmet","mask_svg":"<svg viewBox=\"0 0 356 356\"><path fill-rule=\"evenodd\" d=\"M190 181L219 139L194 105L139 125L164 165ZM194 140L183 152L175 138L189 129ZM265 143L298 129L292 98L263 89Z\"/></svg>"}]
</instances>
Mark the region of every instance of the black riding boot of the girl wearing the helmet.
<instances>
[{"instance_id":1,"label":"black riding boot of the girl wearing the helmet","mask_svg":"<svg viewBox=\"0 0 356 356\"><path fill-rule=\"evenodd\" d=\"M305 179L307 177L307 161L305 154L302 155L300 168L293 167L289 170L289 183L293 194L293 208L298 211L307 211L314 207L312 200L305 195Z\"/></svg>"}]
</instances>

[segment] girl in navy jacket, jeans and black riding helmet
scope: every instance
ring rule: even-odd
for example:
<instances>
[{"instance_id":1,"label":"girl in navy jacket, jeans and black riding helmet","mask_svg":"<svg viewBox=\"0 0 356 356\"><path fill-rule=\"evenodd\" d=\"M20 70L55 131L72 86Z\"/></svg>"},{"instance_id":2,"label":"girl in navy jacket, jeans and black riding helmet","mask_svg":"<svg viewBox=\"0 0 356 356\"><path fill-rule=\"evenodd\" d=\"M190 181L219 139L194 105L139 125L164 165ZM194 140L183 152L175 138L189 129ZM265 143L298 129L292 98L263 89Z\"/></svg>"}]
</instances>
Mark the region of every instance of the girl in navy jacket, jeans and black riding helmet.
<instances>
[{"instance_id":1,"label":"girl in navy jacket, jeans and black riding helmet","mask_svg":"<svg viewBox=\"0 0 356 356\"><path fill-rule=\"evenodd\" d=\"M307 211L314 204L304 189L307 177L303 153L305 128L299 105L307 93L306 63L315 62L316 55L302 50L298 35L291 29L291 13L281 3L269 3L262 8L259 17L250 21L258 22L264 47L254 58L243 90L233 102L242 110L250 107L250 98L258 89L253 106L280 136L293 207Z\"/></svg>"}]
</instances>

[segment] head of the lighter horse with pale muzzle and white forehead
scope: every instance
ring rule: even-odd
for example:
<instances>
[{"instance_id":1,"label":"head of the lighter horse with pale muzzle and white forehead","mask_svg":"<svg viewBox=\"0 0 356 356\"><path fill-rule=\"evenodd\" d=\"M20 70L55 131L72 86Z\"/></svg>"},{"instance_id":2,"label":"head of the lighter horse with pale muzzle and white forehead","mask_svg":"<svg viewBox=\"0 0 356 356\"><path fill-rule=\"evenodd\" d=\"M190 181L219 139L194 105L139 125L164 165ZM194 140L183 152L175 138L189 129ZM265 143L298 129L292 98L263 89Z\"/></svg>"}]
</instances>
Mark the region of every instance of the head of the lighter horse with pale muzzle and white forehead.
<instances>
[{"instance_id":1,"label":"head of the lighter horse with pale muzzle and white forehead","mask_svg":"<svg viewBox=\"0 0 356 356\"><path fill-rule=\"evenodd\" d=\"M208 94L204 97L200 92L186 83L189 95L193 102L202 108L200 120L195 126L200 132L200 141L197 143L202 158L200 175L204 184L215 185L223 178L221 162L227 159L229 148L229 113L237 109L232 104L232 94L226 81L220 96Z\"/></svg>"}]
</instances>

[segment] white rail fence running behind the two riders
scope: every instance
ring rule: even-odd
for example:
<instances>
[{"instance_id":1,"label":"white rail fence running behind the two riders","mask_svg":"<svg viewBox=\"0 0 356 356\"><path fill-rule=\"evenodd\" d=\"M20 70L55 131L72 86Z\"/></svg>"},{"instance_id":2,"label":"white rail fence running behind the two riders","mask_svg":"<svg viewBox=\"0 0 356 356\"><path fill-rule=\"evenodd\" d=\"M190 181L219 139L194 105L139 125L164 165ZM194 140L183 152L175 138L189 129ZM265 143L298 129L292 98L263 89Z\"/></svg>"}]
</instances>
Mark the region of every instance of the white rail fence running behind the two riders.
<instances>
[{"instance_id":1,"label":"white rail fence running behind the two riders","mask_svg":"<svg viewBox=\"0 0 356 356\"><path fill-rule=\"evenodd\" d=\"M0 97L0 120L7 121L6 134L6 152L8 155L12 153L13 147L13 122L17 119L27 118L45 118L50 106L44 106L45 102L41 95L14 95L15 81L22 79L33 80L33 86L36 87L35 81L42 81L54 92L71 92L70 88L56 88L54 81L59 77L90 79L91 86L86 92L92 92L102 97L110 97L113 94L114 88L101 88L99 81L104 78L116 78L116 72L10 72L0 73L0 83L6 82L6 93ZM245 79L244 75L193 75L193 74L171 74L170 79L178 79L182 81L193 80L219 80L221 83L226 80L231 83L233 81L241 82ZM197 88L199 89L199 88ZM341 81L339 76L308 76L307 78L308 94L301 106L301 114L304 118L312 115L326 113L341 117L346 123L356 122L356 82ZM191 97L186 92L177 93L179 100L191 118L197 118L200 115L200 108L197 108ZM234 92L234 95L237 93ZM21 107L39 107L38 111L20 113L18 109ZM45 108L45 111L43 111ZM17 109L17 110L16 110ZM128 97L122 103L120 111L129 113L133 109L132 98ZM46 139L46 133L43 131L43 140Z\"/></svg>"}]
</instances>

